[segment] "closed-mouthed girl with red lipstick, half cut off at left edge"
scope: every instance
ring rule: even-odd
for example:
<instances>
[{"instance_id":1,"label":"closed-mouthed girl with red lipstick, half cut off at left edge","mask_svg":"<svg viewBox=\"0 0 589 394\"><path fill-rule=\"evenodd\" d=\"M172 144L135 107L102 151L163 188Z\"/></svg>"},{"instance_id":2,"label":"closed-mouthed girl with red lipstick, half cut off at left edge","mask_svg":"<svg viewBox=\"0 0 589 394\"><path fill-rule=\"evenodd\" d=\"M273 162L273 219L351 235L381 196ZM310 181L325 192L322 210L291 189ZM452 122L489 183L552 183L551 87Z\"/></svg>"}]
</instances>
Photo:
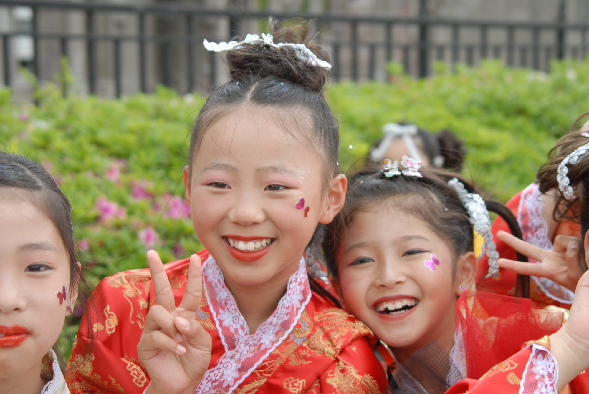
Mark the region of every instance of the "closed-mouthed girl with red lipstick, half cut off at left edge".
<instances>
[{"instance_id":1,"label":"closed-mouthed girl with red lipstick, half cut off at left edge","mask_svg":"<svg viewBox=\"0 0 589 394\"><path fill-rule=\"evenodd\" d=\"M70 202L43 166L0 151L0 392L68 393L52 347L80 281Z\"/></svg>"}]
</instances>

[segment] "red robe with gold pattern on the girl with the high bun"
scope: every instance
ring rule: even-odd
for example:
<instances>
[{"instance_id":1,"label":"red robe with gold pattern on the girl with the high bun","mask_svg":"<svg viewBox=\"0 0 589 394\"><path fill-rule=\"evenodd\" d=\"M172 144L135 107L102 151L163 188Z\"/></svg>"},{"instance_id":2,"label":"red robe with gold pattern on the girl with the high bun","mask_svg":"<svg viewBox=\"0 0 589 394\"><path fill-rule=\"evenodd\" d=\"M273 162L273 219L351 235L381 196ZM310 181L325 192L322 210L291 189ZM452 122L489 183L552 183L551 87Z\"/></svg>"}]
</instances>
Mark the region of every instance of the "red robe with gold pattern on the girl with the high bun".
<instances>
[{"instance_id":1,"label":"red robe with gold pattern on the girl with the high bun","mask_svg":"<svg viewBox=\"0 0 589 394\"><path fill-rule=\"evenodd\" d=\"M204 260L209 253L198 255ZM188 261L164 265L176 305L186 288ZM136 347L153 302L148 269L120 272L100 282L82 316L68 362L72 393L143 393L150 379ZM196 319L213 339L213 368L225 350L206 297ZM358 319L312 293L289 336L233 393L380 393L387 382L366 341L371 336Z\"/></svg>"}]
</instances>

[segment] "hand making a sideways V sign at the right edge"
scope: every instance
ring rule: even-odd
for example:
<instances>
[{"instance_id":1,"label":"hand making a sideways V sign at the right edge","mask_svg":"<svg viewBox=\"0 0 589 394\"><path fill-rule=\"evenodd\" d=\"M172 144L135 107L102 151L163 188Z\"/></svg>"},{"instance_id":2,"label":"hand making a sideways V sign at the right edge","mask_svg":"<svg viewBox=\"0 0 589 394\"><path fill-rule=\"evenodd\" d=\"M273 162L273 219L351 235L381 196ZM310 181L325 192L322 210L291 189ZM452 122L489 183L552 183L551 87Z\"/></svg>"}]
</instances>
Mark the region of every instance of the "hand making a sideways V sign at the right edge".
<instances>
[{"instance_id":1,"label":"hand making a sideways V sign at the right edge","mask_svg":"<svg viewBox=\"0 0 589 394\"><path fill-rule=\"evenodd\" d=\"M522 253L522 255L540 262L530 264L509 259L499 259L497 262L499 266L509 271L521 273L522 275L542 276L573 292L577 287L579 278L585 272L580 249L580 238L558 235L554 239L551 251L538 248L538 246L522 241L505 231L497 232L497 238Z\"/></svg>"}]
</instances>

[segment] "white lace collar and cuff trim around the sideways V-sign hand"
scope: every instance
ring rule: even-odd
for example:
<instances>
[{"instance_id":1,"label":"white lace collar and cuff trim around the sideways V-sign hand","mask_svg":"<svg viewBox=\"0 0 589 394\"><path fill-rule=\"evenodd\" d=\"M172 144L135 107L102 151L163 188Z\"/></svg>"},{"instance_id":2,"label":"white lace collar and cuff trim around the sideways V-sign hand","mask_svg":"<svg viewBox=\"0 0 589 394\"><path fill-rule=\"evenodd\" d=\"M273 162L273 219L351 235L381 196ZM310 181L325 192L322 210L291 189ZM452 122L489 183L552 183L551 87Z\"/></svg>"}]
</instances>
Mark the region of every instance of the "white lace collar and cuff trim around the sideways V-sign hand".
<instances>
[{"instance_id":1,"label":"white lace collar and cuff trim around the sideways V-sign hand","mask_svg":"<svg viewBox=\"0 0 589 394\"><path fill-rule=\"evenodd\" d=\"M548 238L548 223L542 216L541 195L537 183L532 183L524 189L519 201L517 221L526 242L538 246L538 248L550 250L552 249L552 242ZM530 258L530 262L537 263L538 261ZM538 276L531 276L531 278L534 279L534 282L538 284L538 287L548 298L561 303L573 303L575 293L564 286L558 285L548 278Z\"/></svg>"}]
</instances>

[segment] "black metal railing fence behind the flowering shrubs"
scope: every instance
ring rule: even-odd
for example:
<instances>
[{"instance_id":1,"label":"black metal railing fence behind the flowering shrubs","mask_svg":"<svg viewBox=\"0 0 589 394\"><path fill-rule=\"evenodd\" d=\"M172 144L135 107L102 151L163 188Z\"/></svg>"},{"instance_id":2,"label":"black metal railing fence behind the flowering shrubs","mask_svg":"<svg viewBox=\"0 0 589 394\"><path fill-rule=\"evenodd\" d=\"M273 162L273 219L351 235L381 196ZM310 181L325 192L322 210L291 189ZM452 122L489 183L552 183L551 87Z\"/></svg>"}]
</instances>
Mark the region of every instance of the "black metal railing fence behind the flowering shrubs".
<instances>
[{"instance_id":1,"label":"black metal railing fence behind the flowering shrubs","mask_svg":"<svg viewBox=\"0 0 589 394\"><path fill-rule=\"evenodd\" d=\"M547 69L554 58L584 58L589 26L565 23L565 1L555 4L555 21L550 23L431 18L428 0L419 0L419 15L414 18L307 17L314 19L332 50L335 78L386 80L386 64L391 60L402 64L409 74L422 77L430 74L434 61L473 65L483 58L498 58L512 66ZM114 96L150 92L158 84L180 92L206 90L221 76L218 55L204 51L203 39L228 41L248 30L257 32L254 30L262 26L260 21L268 16L267 11L220 11L170 3L124 6L0 0L0 11L4 8L10 12L17 6L30 8L32 17L25 28L0 26L4 85L14 84L19 65L27 66L41 80L48 79L47 70L55 69L51 64L57 64L59 54L71 59L72 52L77 51L81 65L77 78L86 86L85 92L104 94L98 85L110 84ZM60 13L77 18L79 31L42 22L44 15ZM108 18L121 15L126 19L113 32ZM34 55L29 62L19 64L12 46L23 36L31 39Z\"/></svg>"}]
</instances>

